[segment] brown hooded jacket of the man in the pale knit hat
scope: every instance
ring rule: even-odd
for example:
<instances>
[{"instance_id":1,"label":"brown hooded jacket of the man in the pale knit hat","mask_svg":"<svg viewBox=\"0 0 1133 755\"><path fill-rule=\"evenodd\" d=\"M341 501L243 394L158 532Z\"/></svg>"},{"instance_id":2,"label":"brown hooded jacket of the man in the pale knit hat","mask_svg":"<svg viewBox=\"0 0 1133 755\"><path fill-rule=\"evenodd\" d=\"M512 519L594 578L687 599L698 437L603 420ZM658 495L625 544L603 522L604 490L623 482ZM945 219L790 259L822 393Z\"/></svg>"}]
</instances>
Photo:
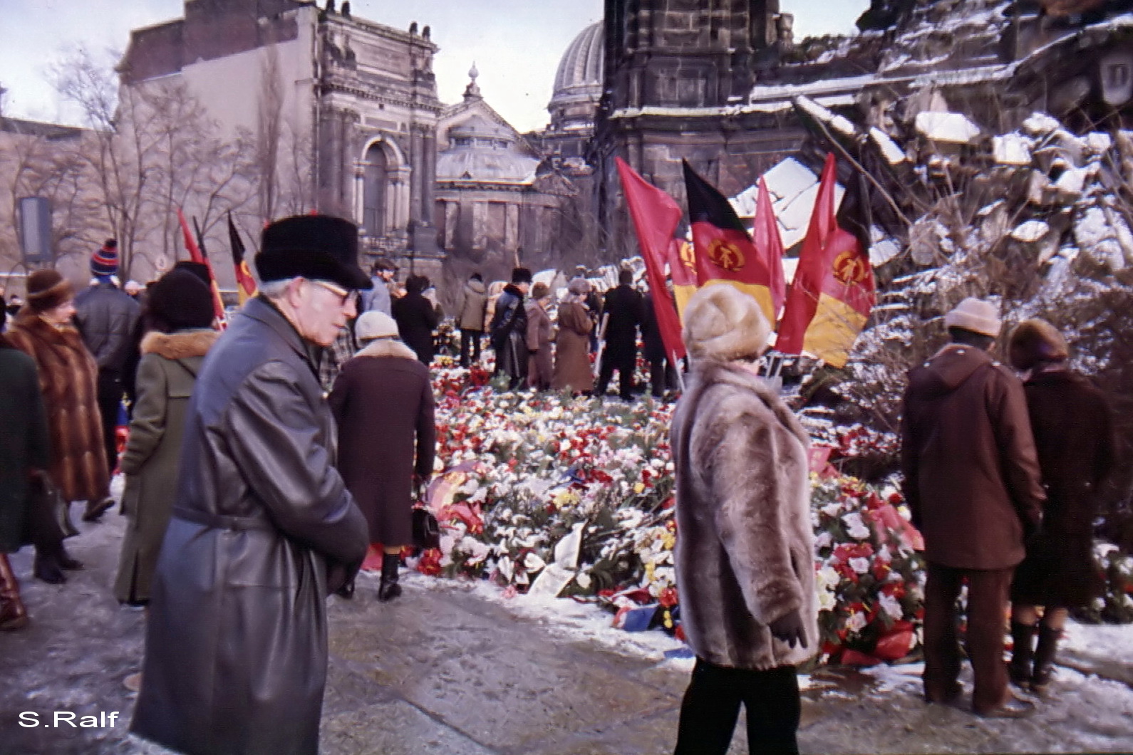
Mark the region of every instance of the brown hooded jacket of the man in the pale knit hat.
<instances>
[{"instance_id":1,"label":"brown hooded jacket of the man in the pale knit hat","mask_svg":"<svg viewBox=\"0 0 1133 755\"><path fill-rule=\"evenodd\" d=\"M1023 560L1045 495L1023 385L1010 369L949 344L910 371L901 465L927 560L959 569Z\"/></svg>"}]
</instances>

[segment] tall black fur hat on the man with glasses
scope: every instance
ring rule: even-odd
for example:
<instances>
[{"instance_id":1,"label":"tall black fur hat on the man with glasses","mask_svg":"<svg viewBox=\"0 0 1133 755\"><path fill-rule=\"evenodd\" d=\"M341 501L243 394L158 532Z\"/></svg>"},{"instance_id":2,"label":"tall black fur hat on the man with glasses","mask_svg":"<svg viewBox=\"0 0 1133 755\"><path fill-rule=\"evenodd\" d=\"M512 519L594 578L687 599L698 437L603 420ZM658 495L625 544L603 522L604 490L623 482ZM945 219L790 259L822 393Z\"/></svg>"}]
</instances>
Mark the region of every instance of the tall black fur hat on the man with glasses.
<instances>
[{"instance_id":1,"label":"tall black fur hat on the man with glasses","mask_svg":"<svg viewBox=\"0 0 1133 755\"><path fill-rule=\"evenodd\" d=\"M296 215L265 228L256 272L264 283L301 276L343 289L374 288L358 266L358 228L330 215Z\"/></svg>"}]
</instances>

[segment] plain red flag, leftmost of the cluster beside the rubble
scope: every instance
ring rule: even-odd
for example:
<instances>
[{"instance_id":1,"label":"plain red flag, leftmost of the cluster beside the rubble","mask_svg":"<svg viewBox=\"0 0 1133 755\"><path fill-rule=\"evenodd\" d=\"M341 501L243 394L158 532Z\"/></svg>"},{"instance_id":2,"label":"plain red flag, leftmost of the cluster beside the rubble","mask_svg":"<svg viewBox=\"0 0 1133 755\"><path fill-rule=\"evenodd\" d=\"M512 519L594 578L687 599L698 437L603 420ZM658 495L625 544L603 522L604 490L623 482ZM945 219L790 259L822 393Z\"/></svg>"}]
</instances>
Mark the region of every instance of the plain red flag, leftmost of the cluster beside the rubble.
<instances>
[{"instance_id":1,"label":"plain red flag, leftmost of the cluster beside the rubble","mask_svg":"<svg viewBox=\"0 0 1133 755\"><path fill-rule=\"evenodd\" d=\"M625 204L637 229L638 246L641 247L646 277L653 292L657 328L665 342L665 353L675 364L684 357L684 342L681 340L681 318L665 286L665 263L676 224L681 222L681 208L671 196L638 175L624 160L615 157L615 162L622 190L625 191Z\"/></svg>"}]
</instances>

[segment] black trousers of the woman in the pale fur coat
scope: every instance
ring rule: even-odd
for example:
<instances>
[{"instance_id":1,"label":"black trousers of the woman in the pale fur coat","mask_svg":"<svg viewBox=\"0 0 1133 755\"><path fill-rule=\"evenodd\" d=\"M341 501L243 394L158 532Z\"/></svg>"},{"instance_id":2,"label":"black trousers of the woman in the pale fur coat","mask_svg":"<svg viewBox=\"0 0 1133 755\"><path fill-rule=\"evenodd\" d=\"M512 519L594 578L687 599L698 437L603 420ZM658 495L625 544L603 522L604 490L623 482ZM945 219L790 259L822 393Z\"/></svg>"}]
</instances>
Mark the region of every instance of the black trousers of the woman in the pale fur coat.
<instances>
[{"instance_id":1,"label":"black trousers of the woman in the pale fur coat","mask_svg":"<svg viewBox=\"0 0 1133 755\"><path fill-rule=\"evenodd\" d=\"M730 669L698 658L681 703L674 755L724 755L740 704L748 717L749 753L798 753L802 717L793 666L766 671Z\"/></svg>"}]
</instances>

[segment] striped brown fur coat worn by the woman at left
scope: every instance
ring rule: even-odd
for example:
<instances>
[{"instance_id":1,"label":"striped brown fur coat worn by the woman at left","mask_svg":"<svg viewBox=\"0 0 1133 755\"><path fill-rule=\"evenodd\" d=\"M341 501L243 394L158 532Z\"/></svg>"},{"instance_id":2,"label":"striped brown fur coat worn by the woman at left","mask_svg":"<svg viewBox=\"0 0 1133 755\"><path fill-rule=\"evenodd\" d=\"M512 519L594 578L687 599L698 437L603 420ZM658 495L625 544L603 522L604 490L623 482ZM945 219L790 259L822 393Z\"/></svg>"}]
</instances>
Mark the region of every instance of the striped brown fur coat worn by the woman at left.
<instances>
[{"instance_id":1,"label":"striped brown fur coat worn by the woman at left","mask_svg":"<svg viewBox=\"0 0 1133 755\"><path fill-rule=\"evenodd\" d=\"M99 368L71 326L58 329L28 308L7 333L35 360L51 431L51 480L67 500L97 500L110 492L96 386Z\"/></svg>"}]
</instances>

